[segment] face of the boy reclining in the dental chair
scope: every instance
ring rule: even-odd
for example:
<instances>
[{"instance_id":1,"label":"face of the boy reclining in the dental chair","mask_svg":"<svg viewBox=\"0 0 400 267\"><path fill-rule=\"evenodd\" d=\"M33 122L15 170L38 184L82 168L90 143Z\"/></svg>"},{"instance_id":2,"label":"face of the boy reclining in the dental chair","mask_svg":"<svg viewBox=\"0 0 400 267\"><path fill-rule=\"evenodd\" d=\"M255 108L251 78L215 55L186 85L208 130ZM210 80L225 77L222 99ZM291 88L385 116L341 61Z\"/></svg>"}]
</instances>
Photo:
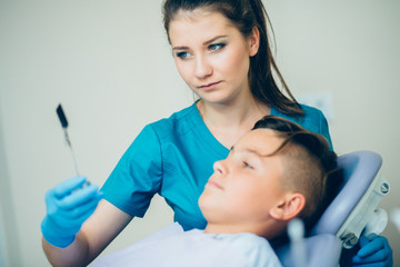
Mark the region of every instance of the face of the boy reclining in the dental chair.
<instances>
[{"instance_id":1,"label":"face of the boy reclining in the dental chair","mask_svg":"<svg viewBox=\"0 0 400 267\"><path fill-rule=\"evenodd\" d=\"M264 156L281 142L273 130L252 130L227 159L214 164L214 174L199 199L209 224L250 225L270 218L270 209L284 196L280 184L283 161L279 154Z\"/></svg>"}]
</instances>

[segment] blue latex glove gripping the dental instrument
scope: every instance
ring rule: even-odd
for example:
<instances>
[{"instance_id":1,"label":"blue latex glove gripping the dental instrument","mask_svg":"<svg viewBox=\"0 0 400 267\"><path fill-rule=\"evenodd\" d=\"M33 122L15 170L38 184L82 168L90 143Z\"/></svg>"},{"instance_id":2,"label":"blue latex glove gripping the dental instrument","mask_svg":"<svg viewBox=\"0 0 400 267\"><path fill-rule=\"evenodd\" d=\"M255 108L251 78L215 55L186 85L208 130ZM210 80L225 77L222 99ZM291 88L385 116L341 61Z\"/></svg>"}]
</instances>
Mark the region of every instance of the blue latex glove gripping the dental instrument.
<instances>
[{"instance_id":1,"label":"blue latex glove gripping the dental instrument","mask_svg":"<svg viewBox=\"0 0 400 267\"><path fill-rule=\"evenodd\" d=\"M46 194L47 215L41 222L44 239L60 248L73 243L83 221L93 214L102 198L99 188L89 185L83 188L86 177L70 178Z\"/></svg>"}]
</instances>

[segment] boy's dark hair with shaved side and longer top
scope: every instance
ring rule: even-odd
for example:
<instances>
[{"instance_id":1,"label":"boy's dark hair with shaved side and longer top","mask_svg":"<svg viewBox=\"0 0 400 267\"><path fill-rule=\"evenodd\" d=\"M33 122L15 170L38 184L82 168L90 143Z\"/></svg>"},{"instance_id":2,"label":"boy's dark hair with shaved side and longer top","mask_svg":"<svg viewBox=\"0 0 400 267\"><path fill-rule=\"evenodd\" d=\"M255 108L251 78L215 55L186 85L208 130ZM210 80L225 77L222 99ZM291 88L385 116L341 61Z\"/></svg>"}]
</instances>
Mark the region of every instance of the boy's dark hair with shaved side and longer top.
<instances>
[{"instance_id":1,"label":"boy's dark hair with shaved side and longer top","mask_svg":"<svg viewBox=\"0 0 400 267\"><path fill-rule=\"evenodd\" d=\"M283 157L282 186L306 197L304 209L299 215L309 230L337 195L342 181L337 155L327 139L301 126L276 116L259 120L253 129L271 129L283 139L272 155ZM271 155L271 156L272 156Z\"/></svg>"}]
</instances>

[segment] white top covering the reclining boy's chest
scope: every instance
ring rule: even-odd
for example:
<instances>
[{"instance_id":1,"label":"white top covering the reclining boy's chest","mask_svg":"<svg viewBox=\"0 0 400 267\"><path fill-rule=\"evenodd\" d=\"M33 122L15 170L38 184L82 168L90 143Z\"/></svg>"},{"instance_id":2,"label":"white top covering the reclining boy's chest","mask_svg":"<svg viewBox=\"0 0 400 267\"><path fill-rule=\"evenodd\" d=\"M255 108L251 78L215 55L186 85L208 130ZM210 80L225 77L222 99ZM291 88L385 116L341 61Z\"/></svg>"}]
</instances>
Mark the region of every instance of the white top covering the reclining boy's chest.
<instances>
[{"instance_id":1,"label":"white top covering the reclining boy's chest","mask_svg":"<svg viewBox=\"0 0 400 267\"><path fill-rule=\"evenodd\" d=\"M269 243L257 235L183 231L176 222L120 251L99 258L92 266L276 267L281 264Z\"/></svg>"}]
</instances>

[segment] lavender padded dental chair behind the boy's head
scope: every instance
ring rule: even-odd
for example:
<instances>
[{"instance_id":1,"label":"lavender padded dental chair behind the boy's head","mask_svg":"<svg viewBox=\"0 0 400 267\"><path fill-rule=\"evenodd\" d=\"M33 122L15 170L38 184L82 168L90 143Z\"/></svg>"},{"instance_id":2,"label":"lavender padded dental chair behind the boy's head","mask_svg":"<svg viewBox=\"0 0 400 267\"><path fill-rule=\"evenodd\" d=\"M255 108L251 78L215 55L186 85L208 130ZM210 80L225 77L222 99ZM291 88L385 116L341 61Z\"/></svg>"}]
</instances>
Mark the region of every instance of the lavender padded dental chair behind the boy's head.
<instances>
[{"instance_id":1,"label":"lavender padded dental chair behind the boy's head","mask_svg":"<svg viewBox=\"0 0 400 267\"><path fill-rule=\"evenodd\" d=\"M317 221L310 235L303 238L306 266L339 265L341 249L350 249L360 235L379 235L388 222L383 209L377 209L389 192L389 184L379 174L382 158L372 151L356 151L338 158L343 169L343 185ZM299 266L290 244L276 247L283 266Z\"/></svg>"}]
</instances>

